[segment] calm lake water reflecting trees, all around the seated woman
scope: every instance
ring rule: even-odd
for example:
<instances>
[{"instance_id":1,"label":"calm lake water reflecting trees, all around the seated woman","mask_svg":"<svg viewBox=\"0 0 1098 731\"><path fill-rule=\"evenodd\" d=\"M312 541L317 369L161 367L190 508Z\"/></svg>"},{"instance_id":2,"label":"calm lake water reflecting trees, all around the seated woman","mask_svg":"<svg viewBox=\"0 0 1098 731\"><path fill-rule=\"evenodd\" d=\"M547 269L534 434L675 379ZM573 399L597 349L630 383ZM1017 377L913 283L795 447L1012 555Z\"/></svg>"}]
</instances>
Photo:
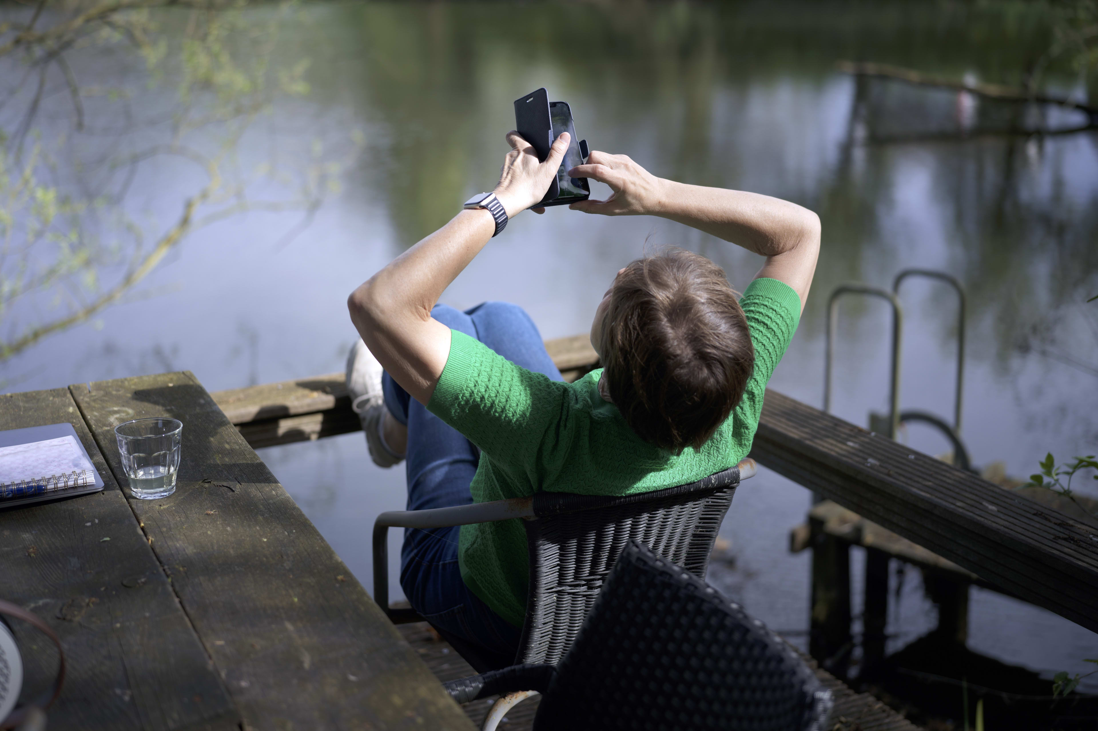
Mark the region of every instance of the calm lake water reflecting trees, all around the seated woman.
<instances>
[{"instance_id":1,"label":"calm lake water reflecting trees, all around the seated woman","mask_svg":"<svg viewBox=\"0 0 1098 731\"><path fill-rule=\"evenodd\" d=\"M1019 120L1052 127L1079 120L889 82L859 88L836 63L1017 83L1051 38L1030 13L925 3L311 3L246 11L229 37L234 52L261 46L272 69L296 67L300 76L291 74L285 93L274 92L250 121L226 169L288 171L249 189L257 203L300 185L320 190L325 178L338 188L305 220L300 210L255 210L186 237L119 302L0 361L0 391L182 369L215 391L341 370L356 337L347 294L494 184L512 101L545 86L550 99L571 104L594 149L628 154L660 176L778 195L820 214L820 265L774 374L777 391L821 404L826 302L840 283L888 288L908 267L955 275L968 297L962 437L975 464L1000 461L1024 479L1050 450L1061 459L1098 451L1098 303L1085 303L1098 294L1098 135L1005 135ZM169 40L186 30L181 13L158 19ZM125 45L91 43L72 53L79 63L70 66L88 88L83 126L74 122L64 77L51 71L38 138L47 149L63 140L60 169L72 177L61 176L60 185L71 194L115 185L116 209L144 227L147 248L204 184L202 170L180 156L153 157L120 182L111 160L170 139L178 97L170 78L150 83L156 79ZM307 67L298 66L302 59ZM1084 93L1066 69L1049 74L1052 88ZM14 78L0 70L2 83ZM21 93L25 110L30 92ZM15 106L0 110L5 130L18 127ZM231 126L187 134L213 154L212 140ZM239 196L217 194L229 203ZM594 194L606 189L595 184ZM107 240L117 224L104 213L88 225ZM551 209L515 218L442 301L511 301L547 338L585 333L617 269L660 245L710 257L740 290L760 265L666 222ZM126 262L107 257L97 271L102 290ZM11 341L87 300L87 284L65 280L15 301L0 313L0 338ZM901 300L901 406L948 419L955 301L921 281L905 284ZM887 403L888 315L879 303L853 300L842 313L833 411L865 425L867 413ZM929 453L949 448L921 427L901 438ZM370 527L379 511L403 507L402 470L374 468L361 435L261 457L371 586ZM739 490L722 528L735 565L710 572L798 643L808 623L809 559L786 547L808 505L807 491L762 470ZM861 561L855 551L855 611ZM395 566L391 575L400 596ZM907 576L890 607L890 649L935 622L918 578ZM971 610L972 649L1047 677L1087 672L1082 660L1098 656L1098 636L1042 609L973 589Z\"/></svg>"}]
</instances>

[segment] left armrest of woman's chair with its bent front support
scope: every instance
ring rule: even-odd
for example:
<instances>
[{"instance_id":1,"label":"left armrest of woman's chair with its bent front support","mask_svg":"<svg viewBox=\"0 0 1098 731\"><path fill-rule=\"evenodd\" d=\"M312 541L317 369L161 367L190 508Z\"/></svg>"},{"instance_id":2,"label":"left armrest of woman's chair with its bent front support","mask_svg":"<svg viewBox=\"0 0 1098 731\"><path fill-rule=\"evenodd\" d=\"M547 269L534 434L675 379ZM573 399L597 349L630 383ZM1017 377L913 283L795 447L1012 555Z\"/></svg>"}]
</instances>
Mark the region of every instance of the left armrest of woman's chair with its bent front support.
<instances>
[{"instance_id":1,"label":"left armrest of woman's chair with its bent front support","mask_svg":"<svg viewBox=\"0 0 1098 731\"><path fill-rule=\"evenodd\" d=\"M373 521L373 600L394 625L423 621L413 609L389 606L389 529L448 528L511 518L533 518L534 498L515 497L491 503L470 503L429 510L390 510Z\"/></svg>"}]
</instances>

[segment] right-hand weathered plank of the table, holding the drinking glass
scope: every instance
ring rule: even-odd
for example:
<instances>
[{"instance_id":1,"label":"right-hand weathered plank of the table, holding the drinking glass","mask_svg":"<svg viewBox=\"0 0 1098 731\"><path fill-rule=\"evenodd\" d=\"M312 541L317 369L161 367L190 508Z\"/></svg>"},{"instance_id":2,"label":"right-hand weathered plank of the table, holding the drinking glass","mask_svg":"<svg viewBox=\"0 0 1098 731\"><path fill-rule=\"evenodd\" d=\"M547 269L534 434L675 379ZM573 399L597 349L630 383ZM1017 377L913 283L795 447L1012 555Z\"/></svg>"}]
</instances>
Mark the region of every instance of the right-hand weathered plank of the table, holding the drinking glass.
<instances>
[{"instance_id":1,"label":"right-hand weathered plank of the table, holding the drinking glass","mask_svg":"<svg viewBox=\"0 0 1098 731\"><path fill-rule=\"evenodd\" d=\"M115 425L183 423L176 494L130 503L247 728L471 728L191 373L71 391L115 476Z\"/></svg>"}]
</instances>

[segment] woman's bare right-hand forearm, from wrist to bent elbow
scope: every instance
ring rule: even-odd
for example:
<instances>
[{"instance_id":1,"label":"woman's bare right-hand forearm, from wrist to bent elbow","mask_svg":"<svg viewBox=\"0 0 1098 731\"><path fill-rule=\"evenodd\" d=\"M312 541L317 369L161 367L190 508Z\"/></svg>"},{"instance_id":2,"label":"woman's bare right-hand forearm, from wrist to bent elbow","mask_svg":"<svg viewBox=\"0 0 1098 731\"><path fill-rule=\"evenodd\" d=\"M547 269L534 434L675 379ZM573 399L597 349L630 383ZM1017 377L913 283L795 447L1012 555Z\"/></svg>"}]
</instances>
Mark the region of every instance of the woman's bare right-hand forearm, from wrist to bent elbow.
<instances>
[{"instance_id":1,"label":"woman's bare right-hand forearm, from wrist to bent elbow","mask_svg":"<svg viewBox=\"0 0 1098 731\"><path fill-rule=\"evenodd\" d=\"M660 180L651 213L693 226L764 257L818 243L811 211L770 195Z\"/></svg>"}]
</instances>

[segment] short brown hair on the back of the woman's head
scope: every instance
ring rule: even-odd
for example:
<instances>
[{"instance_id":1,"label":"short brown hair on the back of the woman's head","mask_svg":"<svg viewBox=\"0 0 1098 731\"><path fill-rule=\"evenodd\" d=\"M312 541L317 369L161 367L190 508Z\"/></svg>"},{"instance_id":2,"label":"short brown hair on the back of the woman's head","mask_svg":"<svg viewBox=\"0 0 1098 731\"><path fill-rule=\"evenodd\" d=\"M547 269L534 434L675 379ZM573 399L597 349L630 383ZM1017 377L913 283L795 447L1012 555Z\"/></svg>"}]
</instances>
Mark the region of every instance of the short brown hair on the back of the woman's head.
<instances>
[{"instance_id":1,"label":"short brown hair on the back of the woman's head","mask_svg":"<svg viewBox=\"0 0 1098 731\"><path fill-rule=\"evenodd\" d=\"M682 249L618 274L601 339L614 404L641 439L676 454L699 449L728 419L754 369L725 271Z\"/></svg>"}]
</instances>

